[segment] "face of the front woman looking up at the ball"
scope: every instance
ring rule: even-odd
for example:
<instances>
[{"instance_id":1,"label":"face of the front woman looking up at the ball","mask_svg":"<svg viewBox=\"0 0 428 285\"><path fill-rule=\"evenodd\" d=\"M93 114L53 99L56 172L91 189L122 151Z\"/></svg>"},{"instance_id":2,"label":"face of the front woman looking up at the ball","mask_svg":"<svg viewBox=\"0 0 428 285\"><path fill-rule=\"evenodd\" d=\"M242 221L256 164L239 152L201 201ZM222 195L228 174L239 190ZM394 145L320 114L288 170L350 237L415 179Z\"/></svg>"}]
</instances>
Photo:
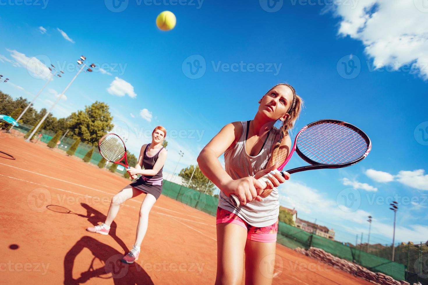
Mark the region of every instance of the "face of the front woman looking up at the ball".
<instances>
[{"instance_id":1,"label":"face of the front woman looking up at the ball","mask_svg":"<svg viewBox=\"0 0 428 285\"><path fill-rule=\"evenodd\" d=\"M272 120L285 120L292 102L293 91L291 88L286 85L278 85L263 96L259 106L259 112L262 112Z\"/></svg>"}]
</instances>

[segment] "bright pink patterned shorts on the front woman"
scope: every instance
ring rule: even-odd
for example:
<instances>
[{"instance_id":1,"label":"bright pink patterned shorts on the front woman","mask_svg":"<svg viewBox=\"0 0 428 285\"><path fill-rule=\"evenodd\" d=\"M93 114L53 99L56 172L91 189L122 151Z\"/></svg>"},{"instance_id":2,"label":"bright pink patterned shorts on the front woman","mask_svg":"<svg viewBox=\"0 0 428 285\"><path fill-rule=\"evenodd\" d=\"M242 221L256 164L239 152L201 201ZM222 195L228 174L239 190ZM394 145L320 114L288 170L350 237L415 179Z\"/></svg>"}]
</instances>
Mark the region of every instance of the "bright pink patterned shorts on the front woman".
<instances>
[{"instance_id":1,"label":"bright pink patterned shorts on the front woman","mask_svg":"<svg viewBox=\"0 0 428 285\"><path fill-rule=\"evenodd\" d=\"M250 241L259 242L276 242L276 233L278 232L278 220L270 226L262 228L251 226L249 223L241 219L237 214L229 212L228 210L217 207L217 223L235 223L243 226L247 230L247 239Z\"/></svg>"}]
</instances>

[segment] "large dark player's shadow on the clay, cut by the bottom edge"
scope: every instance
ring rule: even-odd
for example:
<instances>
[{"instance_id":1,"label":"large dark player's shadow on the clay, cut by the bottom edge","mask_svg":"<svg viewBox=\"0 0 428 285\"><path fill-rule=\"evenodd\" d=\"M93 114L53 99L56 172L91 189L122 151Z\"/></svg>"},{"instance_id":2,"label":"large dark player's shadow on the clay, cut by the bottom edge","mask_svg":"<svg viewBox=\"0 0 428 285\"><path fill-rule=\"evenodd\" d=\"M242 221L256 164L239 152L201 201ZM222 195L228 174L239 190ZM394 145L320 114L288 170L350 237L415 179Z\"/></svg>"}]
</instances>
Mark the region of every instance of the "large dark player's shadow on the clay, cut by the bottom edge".
<instances>
[{"instance_id":1,"label":"large dark player's shadow on the clay, cut by the bottom edge","mask_svg":"<svg viewBox=\"0 0 428 285\"><path fill-rule=\"evenodd\" d=\"M80 277L73 279L73 266L76 256L84 249L91 251L94 258L88 262L88 270L80 273ZM137 264L125 264L121 259L123 253L95 238L83 236L68 251L64 258L64 284L85 283L91 278L113 279L114 284L154 284L150 276ZM94 262L96 259L99 262ZM94 263L98 263L95 264ZM96 267L96 268L94 268Z\"/></svg>"}]
</instances>

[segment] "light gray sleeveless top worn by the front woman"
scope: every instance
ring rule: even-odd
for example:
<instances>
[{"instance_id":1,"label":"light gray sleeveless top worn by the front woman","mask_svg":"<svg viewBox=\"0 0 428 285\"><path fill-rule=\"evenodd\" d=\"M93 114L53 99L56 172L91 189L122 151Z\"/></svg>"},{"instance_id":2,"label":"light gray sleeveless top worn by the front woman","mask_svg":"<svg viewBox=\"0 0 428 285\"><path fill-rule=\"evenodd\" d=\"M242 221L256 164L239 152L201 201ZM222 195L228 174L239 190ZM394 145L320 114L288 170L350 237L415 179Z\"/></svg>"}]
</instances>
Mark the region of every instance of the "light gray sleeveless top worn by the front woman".
<instances>
[{"instance_id":1,"label":"light gray sleeveless top worn by the front woman","mask_svg":"<svg viewBox=\"0 0 428 285\"><path fill-rule=\"evenodd\" d=\"M273 127L260 153L256 156L250 156L245 150L248 122L243 121L241 124L241 138L239 138L239 141L232 148L224 152L226 173L234 180L254 176L260 170L265 169L270 158L270 150L274 143L276 132L278 132L278 129ZM229 197L223 191L220 191L218 206L237 214L252 226L263 227L276 223L279 215L278 198L278 189L274 187L272 193L268 197L263 198L262 202L253 200L245 206L235 207L230 202Z\"/></svg>"}]
</instances>

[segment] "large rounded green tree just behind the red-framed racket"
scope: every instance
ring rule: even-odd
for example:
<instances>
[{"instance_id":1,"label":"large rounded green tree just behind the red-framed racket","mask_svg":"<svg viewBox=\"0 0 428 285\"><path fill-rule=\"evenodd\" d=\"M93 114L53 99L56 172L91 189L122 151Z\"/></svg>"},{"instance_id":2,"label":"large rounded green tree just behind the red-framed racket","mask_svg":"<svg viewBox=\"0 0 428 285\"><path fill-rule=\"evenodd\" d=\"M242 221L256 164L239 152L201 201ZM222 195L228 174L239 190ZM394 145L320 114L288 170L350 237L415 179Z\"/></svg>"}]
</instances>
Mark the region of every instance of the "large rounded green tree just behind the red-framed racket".
<instances>
[{"instance_id":1,"label":"large rounded green tree just behind the red-framed racket","mask_svg":"<svg viewBox=\"0 0 428 285\"><path fill-rule=\"evenodd\" d=\"M89 144L97 143L113 128L113 120L106 103L96 101L85 110L74 112L70 116L68 129L74 138L79 137Z\"/></svg>"}]
</instances>

